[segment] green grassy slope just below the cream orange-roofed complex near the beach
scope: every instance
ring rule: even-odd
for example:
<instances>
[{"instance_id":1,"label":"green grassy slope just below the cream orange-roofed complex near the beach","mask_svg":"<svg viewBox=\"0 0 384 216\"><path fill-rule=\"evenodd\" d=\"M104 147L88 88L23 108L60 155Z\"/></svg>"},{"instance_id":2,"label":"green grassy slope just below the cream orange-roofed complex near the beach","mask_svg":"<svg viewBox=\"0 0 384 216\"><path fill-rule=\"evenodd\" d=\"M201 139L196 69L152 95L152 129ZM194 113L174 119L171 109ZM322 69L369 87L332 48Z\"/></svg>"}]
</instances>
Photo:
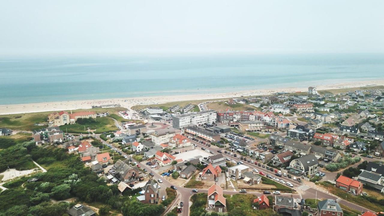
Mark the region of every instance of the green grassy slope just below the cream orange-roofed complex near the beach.
<instances>
[{"instance_id":1,"label":"green grassy slope just below the cream orange-roofed complex near the beach","mask_svg":"<svg viewBox=\"0 0 384 216\"><path fill-rule=\"evenodd\" d=\"M88 133L88 127L91 130L94 130L94 133L97 134L117 130L113 119L108 117L101 117L96 119L90 118L89 121L84 124L75 123L73 125L61 125L60 129L63 131L68 130L68 133Z\"/></svg>"}]
</instances>

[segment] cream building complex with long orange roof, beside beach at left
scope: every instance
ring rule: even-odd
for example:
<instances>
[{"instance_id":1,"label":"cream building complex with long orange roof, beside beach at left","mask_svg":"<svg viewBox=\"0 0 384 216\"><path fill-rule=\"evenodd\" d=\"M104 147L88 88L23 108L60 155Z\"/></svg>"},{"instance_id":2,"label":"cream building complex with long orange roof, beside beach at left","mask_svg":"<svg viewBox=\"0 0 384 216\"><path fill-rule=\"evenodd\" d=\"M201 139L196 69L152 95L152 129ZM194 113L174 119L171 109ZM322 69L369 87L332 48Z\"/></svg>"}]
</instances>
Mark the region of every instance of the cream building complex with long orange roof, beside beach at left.
<instances>
[{"instance_id":1,"label":"cream building complex with long orange roof, beside beach at left","mask_svg":"<svg viewBox=\"0 0 384 216\"><path fill-rule=\"evenodd\" d=\"M96 118L94 111L81 111L77 113L68 113L66 111L54 112L48 115L48 122L55 126L74 124L79 118Z\"/></svg>"}]
</instances>

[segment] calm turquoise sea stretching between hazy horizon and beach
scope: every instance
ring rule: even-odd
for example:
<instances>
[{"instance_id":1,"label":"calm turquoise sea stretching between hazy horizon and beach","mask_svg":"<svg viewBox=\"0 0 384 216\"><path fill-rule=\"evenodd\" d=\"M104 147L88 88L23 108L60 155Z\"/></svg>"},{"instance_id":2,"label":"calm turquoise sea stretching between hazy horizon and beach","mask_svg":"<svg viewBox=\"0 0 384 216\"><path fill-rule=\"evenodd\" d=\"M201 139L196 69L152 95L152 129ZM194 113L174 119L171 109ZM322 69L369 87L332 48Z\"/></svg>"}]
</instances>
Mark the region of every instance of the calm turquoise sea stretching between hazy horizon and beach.
<instances>
[{"instance_id":1,"label":"calm turquoise sea stretching between hazy horizon and beach","mask_svg":"<svg viewBox=\"0 0 384 216\"><path fill-rule=\"evenodd\" d=\"M384 54L0 58L0 104L227 93L384 78Z\"/></svg>"}]
</instances>

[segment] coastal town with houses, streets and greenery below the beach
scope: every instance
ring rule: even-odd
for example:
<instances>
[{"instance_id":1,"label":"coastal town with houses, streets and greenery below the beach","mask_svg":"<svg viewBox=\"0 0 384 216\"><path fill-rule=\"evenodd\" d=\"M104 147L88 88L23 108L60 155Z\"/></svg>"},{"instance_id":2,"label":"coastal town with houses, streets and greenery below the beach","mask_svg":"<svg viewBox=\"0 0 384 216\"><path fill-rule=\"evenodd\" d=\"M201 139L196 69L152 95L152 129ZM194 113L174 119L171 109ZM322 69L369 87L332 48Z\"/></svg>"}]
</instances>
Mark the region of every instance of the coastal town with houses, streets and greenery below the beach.
<instances>
[{"instance_id":1,"label":"coastal town with houses, streets and greenery below the beach","mask_svg":"<svg viewBox=\"0 0 384 216\"><path fill-rule=\"evenodd\" d=\"M381 215L383 89L0 116L0 215Z\"/></svg>"}]
</instances>

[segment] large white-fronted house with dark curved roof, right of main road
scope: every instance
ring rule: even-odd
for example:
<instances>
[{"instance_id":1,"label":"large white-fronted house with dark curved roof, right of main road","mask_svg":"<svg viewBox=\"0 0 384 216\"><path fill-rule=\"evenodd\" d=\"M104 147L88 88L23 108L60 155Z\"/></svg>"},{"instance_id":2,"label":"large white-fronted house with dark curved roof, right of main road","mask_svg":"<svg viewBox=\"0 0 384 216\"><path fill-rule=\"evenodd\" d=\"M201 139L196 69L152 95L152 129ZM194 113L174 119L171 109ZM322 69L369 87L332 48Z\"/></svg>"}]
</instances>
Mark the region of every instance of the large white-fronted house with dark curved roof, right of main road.
<instances>
[{"instance_id":1,"label":"large white-fronted house with dark curved roof, right of main road","mask_svg":"<svg viewBox=\"0 0 384 216\"><path fill-rule=\"evenodd\" d=\"M316 156L310 154L305 155L290 163L290 168L295 169L296 174L302 174L303 176L313 176L317 173L318 160Z\"/></svg>"}]
</instances>

